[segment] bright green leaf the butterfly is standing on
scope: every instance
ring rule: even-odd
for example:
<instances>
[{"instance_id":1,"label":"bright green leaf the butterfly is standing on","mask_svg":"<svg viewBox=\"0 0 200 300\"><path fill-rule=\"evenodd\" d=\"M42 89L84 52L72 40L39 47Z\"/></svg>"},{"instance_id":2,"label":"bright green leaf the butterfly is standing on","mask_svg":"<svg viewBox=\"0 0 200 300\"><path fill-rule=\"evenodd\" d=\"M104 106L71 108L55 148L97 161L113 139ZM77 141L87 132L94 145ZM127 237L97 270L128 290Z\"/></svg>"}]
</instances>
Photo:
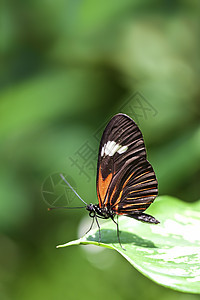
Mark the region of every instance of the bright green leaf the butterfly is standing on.
<instances>
[{"instance_id":1,"label":"bright green leaf the butterfly is standing on","mask_svg":"<svg viewBox=\"0 0 200 300\"><path fill-rule=\"evenodd\" d=\"M116 226L107 221L79 240L57 246L93 244L118 251L138 271L158 284L178 291L200 293L200 201L187 204L162 196L148 209L161 223L149 225L128 217L119 218L120 240ZM97 257L98 259L98 257Z\"/></svg>"}]
</instances>

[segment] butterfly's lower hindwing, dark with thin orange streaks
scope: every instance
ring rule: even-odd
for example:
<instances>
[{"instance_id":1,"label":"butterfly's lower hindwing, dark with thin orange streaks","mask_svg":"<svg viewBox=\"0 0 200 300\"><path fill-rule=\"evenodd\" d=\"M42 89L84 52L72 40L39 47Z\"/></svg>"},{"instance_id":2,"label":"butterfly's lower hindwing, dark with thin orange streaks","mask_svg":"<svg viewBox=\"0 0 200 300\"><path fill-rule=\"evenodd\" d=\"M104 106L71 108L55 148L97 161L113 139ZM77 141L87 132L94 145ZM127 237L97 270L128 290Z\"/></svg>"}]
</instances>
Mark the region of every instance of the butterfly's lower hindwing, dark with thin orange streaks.
<instances>
[{"instance_id":1,"label":"butterfly's lower hindwing, dark with thin orange streaks","mask_svg":"<svg viewBox=\"0 0 200 300\"><path fill-rule=\"evenodd\" d=\"M158 184L151 164L138 159L129 164L122 180L116 176L120 193L111 197L111 208L117 214L133 215L144 212L158 194ZM110 186L112 190L112 184Z\"/></svg>"}]
</instances>

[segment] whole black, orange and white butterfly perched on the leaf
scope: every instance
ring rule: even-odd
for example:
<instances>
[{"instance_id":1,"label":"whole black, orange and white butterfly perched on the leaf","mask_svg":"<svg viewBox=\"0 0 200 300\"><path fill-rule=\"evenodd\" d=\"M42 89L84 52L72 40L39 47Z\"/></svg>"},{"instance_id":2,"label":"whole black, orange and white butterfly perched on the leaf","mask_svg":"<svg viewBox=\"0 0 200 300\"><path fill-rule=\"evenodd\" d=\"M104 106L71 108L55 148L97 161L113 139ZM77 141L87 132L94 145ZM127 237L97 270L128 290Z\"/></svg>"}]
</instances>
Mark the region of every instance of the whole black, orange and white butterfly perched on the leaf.
<instances>
[{"instance_id":1,"label":"whole black, orange and white butterfly perched on the leaf","mask_svg":"<svg viewBox=\"0 0 200 300\"><path fill-rule=\"evenodd\" d=\"M61 177L70 186L62 174ZM158 195L158 182L147 160L142 133L137 124L125 114L119 113L112 117L103 132L96 188L98 204L87 204L74 192L86 204L85 208L93 218L90 229L96 220L99 242L101 232L98 218L113 220L117 226L120 246L119 225L115 216L123 215L150 224L160 223L144 213Z\"/></svg>"}]
</instances>

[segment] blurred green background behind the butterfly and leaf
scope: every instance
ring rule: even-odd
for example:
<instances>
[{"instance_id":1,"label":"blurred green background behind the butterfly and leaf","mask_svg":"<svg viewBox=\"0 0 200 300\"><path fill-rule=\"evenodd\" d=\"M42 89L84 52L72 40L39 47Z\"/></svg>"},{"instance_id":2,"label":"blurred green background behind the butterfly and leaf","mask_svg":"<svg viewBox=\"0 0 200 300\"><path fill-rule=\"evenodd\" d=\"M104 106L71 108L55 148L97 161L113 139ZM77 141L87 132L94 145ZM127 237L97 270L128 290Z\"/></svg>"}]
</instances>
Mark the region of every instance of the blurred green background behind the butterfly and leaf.
<instances>
[{"instance_id":1,"label":"blurred green background behind the butterfly and leaf","mask_svg":"<svg viewBox=\"0 0 200 300\"><path fill-rule=\"evenodd\" d=\"M97 203L98 141L118 112L143 131L160 195L200 198L199 2L0 5L0 299L199 299L114 251L56 249L89 217L47 211L58 172Z\"/></svg>"}]
</instances>

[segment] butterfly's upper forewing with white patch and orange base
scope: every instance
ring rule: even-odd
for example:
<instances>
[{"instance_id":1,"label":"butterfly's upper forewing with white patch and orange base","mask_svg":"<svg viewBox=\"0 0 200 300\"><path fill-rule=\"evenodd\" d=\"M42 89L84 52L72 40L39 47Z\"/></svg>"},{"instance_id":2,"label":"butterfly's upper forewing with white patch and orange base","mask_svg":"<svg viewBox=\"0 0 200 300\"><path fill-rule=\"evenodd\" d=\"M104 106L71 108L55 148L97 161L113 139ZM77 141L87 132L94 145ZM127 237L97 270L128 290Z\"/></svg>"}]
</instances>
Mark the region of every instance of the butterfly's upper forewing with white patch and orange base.
<instances>
[{"instance_id":1,"label":"butterfly's upper forewing with white patch and orange base","mask_svg":"<svg viewBox=\"0 0 200 300\"><path fill-rule=\"evenodd\" d=\"M140 160L146 161L140 129L127 115L115 115L106 126L99 147L97 195L100 207L113 206L118 180L126 179L125 173L130 166L136 165Z\"/></svg>"}]
</instances>

